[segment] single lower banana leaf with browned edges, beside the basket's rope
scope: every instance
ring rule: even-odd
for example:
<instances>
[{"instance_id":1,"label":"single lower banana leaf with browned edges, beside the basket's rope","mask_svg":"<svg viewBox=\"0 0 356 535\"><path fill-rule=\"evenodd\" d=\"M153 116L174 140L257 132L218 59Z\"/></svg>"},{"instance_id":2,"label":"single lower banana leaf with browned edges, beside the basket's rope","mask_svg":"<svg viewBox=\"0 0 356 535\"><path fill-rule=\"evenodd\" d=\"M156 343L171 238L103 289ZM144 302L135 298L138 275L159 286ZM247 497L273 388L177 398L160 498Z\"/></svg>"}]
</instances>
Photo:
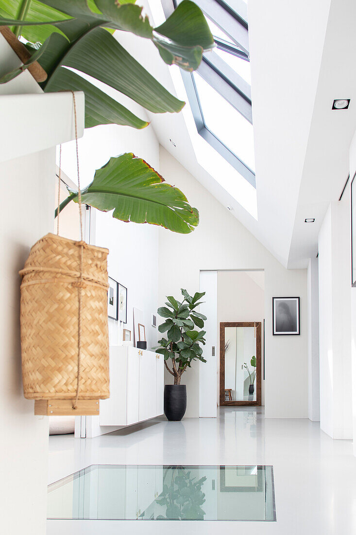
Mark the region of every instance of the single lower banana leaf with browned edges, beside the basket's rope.
<instances>
[{"instance_id":1,"label":"single lower banana leaf with browned edges, beside the basket's rope","mask_svg":"<svg viewBox=\"0 0 356 535\"><path fill-rule=\"evenodd\" d=\"M78 202L78 190L69 192L59 211L72 200ZM91 184L81 191L81 198L104 212L113 210L113 217L122 221L151 223L181 234L188 234L199 223L199 213L185 195L131 152L110 158L98 169Z\"/></svg>"}]
</instances>

